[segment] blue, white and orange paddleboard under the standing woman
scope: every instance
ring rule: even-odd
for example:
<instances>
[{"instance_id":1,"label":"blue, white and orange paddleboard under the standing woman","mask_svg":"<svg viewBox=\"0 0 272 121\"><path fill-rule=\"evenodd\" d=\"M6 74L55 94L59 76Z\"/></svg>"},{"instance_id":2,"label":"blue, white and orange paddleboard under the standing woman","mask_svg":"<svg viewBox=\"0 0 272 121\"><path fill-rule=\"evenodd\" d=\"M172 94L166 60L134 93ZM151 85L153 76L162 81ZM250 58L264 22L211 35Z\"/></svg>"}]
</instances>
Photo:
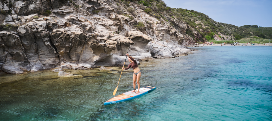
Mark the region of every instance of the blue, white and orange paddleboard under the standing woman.
<instances>
[{"instance_id":1,"label":"blue, white and orange paddleboard under the standing woman","mask_svg":"<svg viewBox=\"0 0 272 121\"><path fill-rule=\"evenodd\" d=\"M124 101L129 101L132 100L134 98L139 98L151 91L153 91L154 89L156 89L156 87L151 87L151 86L147 86L147 87L143 87L140 88L140 93L136 94L136 92L125 92L121 95L115 96L111 99L109 99L108 101L106 101L104 103L104 105L110 105L110 104L115 104L115 103L119 103L119 102L124 102ZM137 90L138 91L138 90Z\"/></svg>"}]
</instances>

